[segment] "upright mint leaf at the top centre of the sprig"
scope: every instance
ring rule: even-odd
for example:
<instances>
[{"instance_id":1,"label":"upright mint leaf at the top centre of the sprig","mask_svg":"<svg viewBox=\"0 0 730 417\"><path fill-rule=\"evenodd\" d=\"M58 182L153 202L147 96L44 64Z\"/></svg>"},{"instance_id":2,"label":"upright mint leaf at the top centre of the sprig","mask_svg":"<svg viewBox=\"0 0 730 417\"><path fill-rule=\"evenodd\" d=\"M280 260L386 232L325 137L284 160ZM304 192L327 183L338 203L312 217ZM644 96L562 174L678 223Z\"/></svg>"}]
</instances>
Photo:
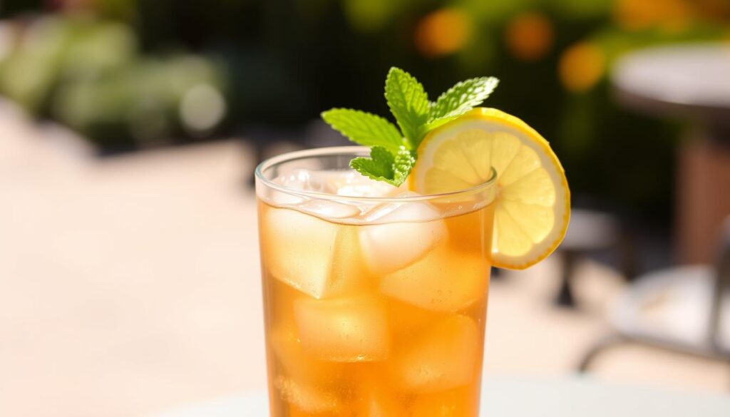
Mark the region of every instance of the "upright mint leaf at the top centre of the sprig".
<instances>
[{"instance_id":1,"label":"upright mint leaf at the top centre of the sprig","mask_svg":"<svg viewBox=\"0 0 730 417\"><path fill-rule=\"evenodd\" d=\"M429 96L411 74L392 67L385 78L385 100L396 118L408 148L418 149L429 122Z\"/></svg>"}]
</instances>

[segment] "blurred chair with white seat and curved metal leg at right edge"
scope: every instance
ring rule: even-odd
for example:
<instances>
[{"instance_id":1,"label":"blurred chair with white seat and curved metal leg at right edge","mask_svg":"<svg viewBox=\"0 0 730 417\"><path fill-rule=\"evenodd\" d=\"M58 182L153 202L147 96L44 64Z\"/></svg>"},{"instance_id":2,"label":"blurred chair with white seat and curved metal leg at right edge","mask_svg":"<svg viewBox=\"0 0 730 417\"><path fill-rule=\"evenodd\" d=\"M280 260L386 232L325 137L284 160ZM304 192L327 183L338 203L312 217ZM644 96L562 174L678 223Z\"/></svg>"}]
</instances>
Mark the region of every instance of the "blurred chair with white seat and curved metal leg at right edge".
<instances>
[{"instance_id":1,"label":"blurred chair with white seat and curved metal leg at right edge","mask_svg":"<svg viewBox=\"0 0 730 417\"><path fill-rule=\"evenodd\" d=\"M641 275L610 308L615 334L585 353L585 372L600 353L640 343L730 361L730 217L715 264L672 267Z\"/></svg>"}]
</instances>

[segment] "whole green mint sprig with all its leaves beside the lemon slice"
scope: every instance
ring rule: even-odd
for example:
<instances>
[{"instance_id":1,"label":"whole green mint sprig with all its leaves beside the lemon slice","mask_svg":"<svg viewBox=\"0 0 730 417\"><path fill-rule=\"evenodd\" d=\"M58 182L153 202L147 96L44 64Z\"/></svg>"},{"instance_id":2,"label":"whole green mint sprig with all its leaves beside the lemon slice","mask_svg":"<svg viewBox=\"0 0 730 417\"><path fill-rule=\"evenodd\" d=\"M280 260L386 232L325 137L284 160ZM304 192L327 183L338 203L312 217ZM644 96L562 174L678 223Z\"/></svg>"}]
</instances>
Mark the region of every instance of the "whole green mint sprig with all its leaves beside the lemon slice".
<instances>
[{"instance_id":1,"label":"whole green mint sprig with all its leaves beside the lemon slice","mask_svg":"<svg viewBox=\"0 0 730 417\"><path fill-rule=\"evenodd\" d=\"M436 102L429 102L415 77L392 67L385 78L385 100L400 130L385 118L360 110L331 109L322 112L322 118L351 141L371 147L370 157L354 158L351 168L399 186L415 164L423 137L480 105L498 83L494 77L472 78L449 88Z\"/></svg>"}]
</instances>

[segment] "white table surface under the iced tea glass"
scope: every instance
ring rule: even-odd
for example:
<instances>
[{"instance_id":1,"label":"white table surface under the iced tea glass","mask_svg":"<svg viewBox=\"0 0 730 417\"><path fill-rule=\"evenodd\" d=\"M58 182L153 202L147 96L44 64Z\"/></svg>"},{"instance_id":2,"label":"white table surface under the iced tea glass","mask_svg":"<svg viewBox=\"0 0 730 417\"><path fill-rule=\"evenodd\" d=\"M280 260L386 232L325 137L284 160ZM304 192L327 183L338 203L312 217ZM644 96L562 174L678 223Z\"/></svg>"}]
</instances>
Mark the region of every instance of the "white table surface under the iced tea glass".
<instances>
[{"instance_id":1,"label":"white table surface under the iced tea glass","mask_svg":"<svg viewBox=\"0 0 730 417\"><path fill-rule=\"evenodd\" d=\"M215 399L150 417L265 417L266 394ZM491 377L482 393L489 417L728 417L730 395L604 383L589 377Z\"/></svg>"}]
</instances>

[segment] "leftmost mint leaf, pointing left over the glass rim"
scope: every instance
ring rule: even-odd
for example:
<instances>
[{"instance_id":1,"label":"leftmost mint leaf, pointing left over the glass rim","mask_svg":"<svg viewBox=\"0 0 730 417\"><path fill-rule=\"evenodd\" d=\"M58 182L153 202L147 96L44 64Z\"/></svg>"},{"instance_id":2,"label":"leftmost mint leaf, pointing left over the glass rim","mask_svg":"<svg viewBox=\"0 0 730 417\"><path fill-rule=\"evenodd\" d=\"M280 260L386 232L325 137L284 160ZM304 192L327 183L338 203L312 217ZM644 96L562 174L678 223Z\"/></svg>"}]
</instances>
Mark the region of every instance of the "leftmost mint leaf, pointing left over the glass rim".
<instances>
[{"instance_id":1,"label":"leftmost mint leaf, pointing left over the glass rim","mask_svg":"<svg viewBox=\"0 0 730 417\"><path fill-rule=\"evenodd\" d=\"M348 139L364 146L382 146L397 153L405 145L396 126L393 123L360 110L332 109L322 112L322 118L333 129L345 135Z\"/></svg>"}]
</instances>

